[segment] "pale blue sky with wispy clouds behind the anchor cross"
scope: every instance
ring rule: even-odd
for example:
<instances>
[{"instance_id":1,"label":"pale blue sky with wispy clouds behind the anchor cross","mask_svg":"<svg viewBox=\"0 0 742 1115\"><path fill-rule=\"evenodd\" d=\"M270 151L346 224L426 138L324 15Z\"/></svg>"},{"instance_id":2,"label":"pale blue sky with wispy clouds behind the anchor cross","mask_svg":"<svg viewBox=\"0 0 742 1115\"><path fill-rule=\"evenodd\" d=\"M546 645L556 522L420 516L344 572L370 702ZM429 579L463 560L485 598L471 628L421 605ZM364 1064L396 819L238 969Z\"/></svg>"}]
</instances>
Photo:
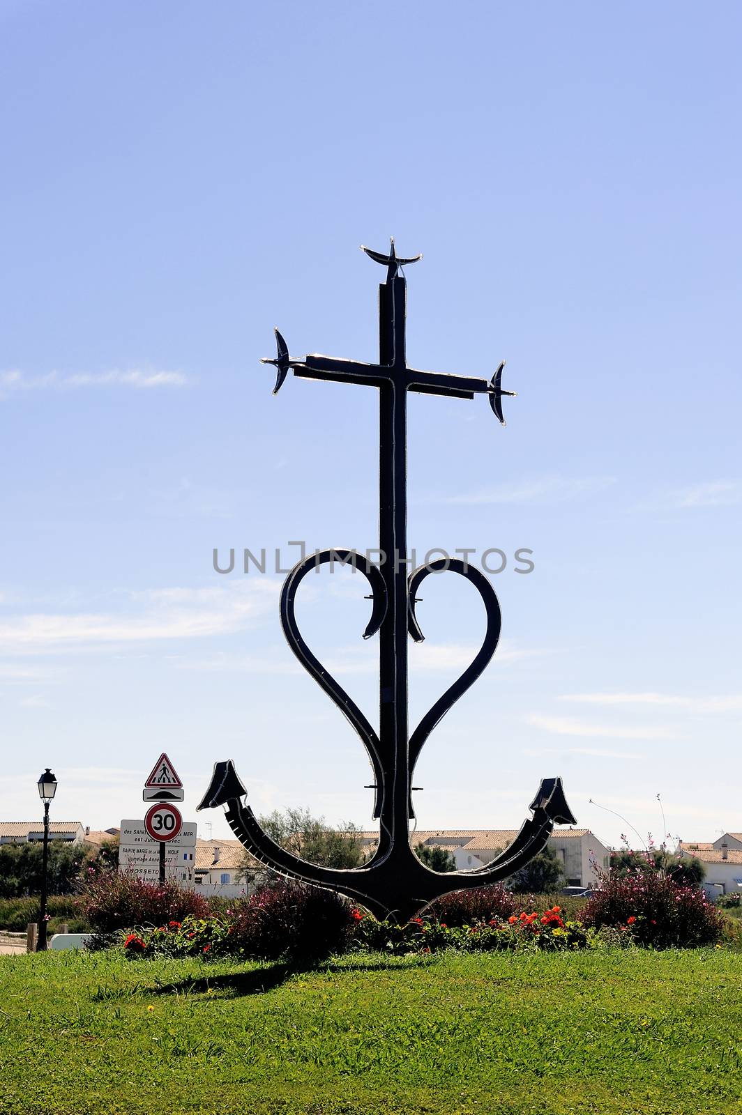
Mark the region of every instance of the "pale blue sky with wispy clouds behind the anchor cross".
<instances>
[{"instance_id":1,"label":"pale blue sky with wispy clouds behind the anchor cross","mask_svg":"<svg viewBox=\"0 0 742 1115\"><path fill-rule=\"evenodd\" d=\"M212 551L374 546L376 395L291 378L375 358L407 270L409 544L533 550L502 646L431 737L421 827L504 827L561 774L580 825L742 827L740 12L731 3L0 3L0 815L186 813L233 757L258 811L369 824L363 748L296 666L281 578ZM452 583L446 583L452 582ZM411 710L482 620L436 579ZM430 582L428 582L430 583ZM372 716L364 584L307 638ZM227 834L220 813L204 820Z\"/></svg>"}]
</instances>

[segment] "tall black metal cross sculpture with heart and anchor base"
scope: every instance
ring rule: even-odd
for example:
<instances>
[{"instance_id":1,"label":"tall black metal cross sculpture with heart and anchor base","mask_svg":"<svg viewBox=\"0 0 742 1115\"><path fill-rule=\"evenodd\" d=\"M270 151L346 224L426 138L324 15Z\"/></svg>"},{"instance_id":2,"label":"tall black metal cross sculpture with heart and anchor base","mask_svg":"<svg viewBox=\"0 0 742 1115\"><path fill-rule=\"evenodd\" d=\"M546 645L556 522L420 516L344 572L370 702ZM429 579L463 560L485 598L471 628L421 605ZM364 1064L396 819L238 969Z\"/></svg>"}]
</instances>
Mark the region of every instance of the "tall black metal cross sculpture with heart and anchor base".
<instances>
[{"instance_id":1,"label":"tall black metal cross sculpture with heart and anchor base","mask_svg":"<svg viewBox=\"0 0 742 1115\"><path fill-rule=\"evenodd\" d=\"M374 817L379 822L379 841L373 857L360 867L335 870L320 867L280 847L260 827L250 806L243 804L247 789L231 760L216 763L211 785L199 808L227 806L232 831L260 862L283 875L339 891L358 901L377 917L398 922L409 919L428 902L471 886L482 886L512 875L545 847L555 824L574 824L560 778L545 778L529 808L532 818L491 863L474 871L445 874L431 871L417 859L409 844L412 778L421 749L439 720L476 680L492 658L500 637L500 605L489 580L473 566L456 559L441 559L407 574L407 392L445 395L473 399L485 395L498 419L504 425L501 385L503 363L492 379L416 371L405 357L406 280L399 266L414 259L398 259L394 240L388 255L363 249L387 270L379 285L378 363L357 363L328 356L307 356L293 360L283 338L276 330L278 356L263 362L276 366L274 392L289 369L302 379L324 379L362 384L378 389L379 396L379 550L378 564L355 551L324 550L308 555L289 573L280 603L281 626L291 650L328 697L345 714L363 740L374 769L376 801ZM325 562L347 562L359 569L368 581L373 601L372 617L364 632L369 639L379 636L379 730L366 717L335 678L312 655L299 631L295 617L296 593L303 576ZM417 591L430 573L453 570L479 590L486 611L486 631L482 646L461 677L425 714L409 735L407 724L407 638L423 640L415 604Z\"/></svg>"}]
</instances>

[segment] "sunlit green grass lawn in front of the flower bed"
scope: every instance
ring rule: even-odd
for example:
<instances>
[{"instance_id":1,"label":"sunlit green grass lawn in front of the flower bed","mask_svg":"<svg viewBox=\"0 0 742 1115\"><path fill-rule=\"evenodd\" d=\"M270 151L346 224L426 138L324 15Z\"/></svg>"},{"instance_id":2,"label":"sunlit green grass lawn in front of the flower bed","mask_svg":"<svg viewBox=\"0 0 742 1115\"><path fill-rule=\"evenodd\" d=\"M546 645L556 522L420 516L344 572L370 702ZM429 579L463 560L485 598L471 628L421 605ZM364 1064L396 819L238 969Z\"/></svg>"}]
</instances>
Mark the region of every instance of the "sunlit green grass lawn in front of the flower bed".
<instances>
[{"instance_id":1,"label":"sunlit green grass lawn in front of the flower bed","mask_svg":"<svg viewBox=\"0 0 742 1115\"><path fill-rule=\"evenodd\" d=\"M0 1113L732 1115L742 954L0 958Z\"/></svg>"}]
</instances>

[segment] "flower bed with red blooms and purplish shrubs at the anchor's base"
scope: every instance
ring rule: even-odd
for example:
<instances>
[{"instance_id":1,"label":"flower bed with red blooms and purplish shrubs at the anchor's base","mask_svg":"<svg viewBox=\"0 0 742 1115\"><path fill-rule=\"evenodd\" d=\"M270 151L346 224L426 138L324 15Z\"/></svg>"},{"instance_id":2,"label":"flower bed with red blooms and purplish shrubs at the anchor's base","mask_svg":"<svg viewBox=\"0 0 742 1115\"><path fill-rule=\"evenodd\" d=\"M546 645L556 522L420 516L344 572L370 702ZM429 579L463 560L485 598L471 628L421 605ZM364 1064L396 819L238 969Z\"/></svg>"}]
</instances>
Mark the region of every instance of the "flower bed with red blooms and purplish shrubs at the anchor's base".
<instances>
[{"instance_id":1,"label":"flower bed with red blooms and purplish shrubs at the anchor's base","mask_svg":"<svg viewBox=\"0 0 742 1115\"><path fill-rule=\"evenodd\" d=\"M127 876L94 880L85 901L91 923L108 934L100 943L115 935L129 957L303 962L345 951L690 948L724 937L726 920L700 890L649 872L603 882L578 917L558 902L523 902L497 886L449 895L406 925L378 921L330 891L287 881L216 910L193 892Z\"/></svg>"}]
</instances>

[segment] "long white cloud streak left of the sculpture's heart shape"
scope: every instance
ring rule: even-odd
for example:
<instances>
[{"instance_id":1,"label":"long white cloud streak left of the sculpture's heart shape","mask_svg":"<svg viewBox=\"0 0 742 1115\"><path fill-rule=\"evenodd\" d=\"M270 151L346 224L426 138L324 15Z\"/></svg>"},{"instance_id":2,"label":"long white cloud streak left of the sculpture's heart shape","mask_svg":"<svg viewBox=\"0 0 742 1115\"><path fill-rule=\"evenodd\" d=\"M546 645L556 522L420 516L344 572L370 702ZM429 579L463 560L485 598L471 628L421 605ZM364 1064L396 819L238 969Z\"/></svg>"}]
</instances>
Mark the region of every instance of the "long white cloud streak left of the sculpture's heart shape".
<instances>
[{"instance_id":1,"label":"long white cloud streak left of the sculpture's heart shape","mask_svg":"<svg viewBox=\"0 0 742 1115\"><path fill-rule=\"evenodd\" d=\"M134 593L126 611L17 615L0 622L0 651L56 651L231 634L272 608L277 591L271 579L261 578L249 584Z\"/></svg>"}]
</instances>

